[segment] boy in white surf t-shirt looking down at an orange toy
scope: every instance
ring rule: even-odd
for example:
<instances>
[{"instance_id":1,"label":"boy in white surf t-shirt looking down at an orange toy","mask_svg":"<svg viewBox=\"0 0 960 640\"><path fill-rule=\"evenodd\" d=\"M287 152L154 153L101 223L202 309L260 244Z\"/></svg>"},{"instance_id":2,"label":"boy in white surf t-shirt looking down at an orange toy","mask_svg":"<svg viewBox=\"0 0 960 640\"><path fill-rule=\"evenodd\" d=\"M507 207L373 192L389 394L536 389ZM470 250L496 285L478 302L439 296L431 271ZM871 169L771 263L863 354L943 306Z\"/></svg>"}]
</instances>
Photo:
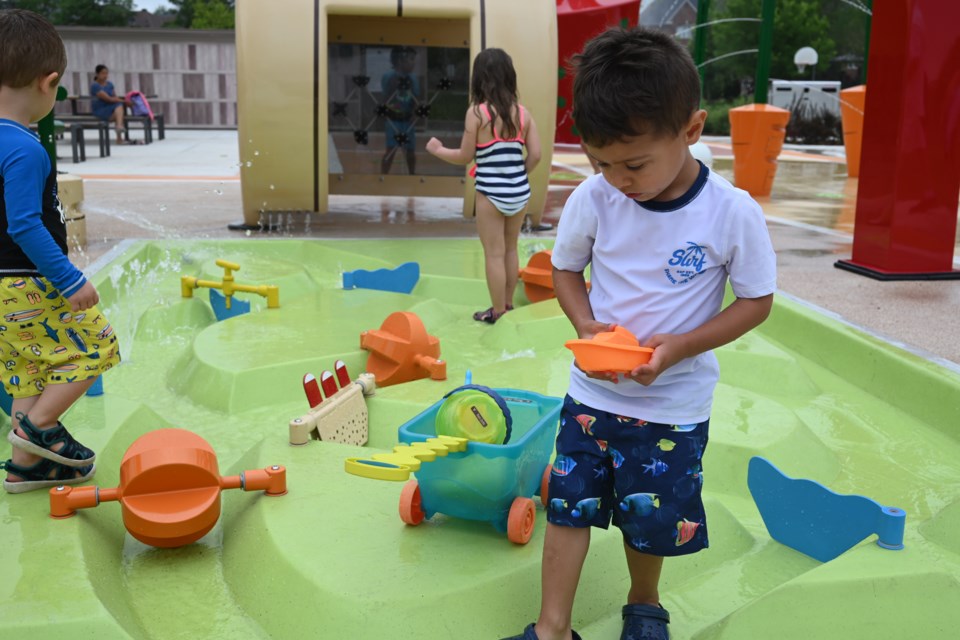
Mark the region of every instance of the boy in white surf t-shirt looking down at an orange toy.
<instances>
[{"instance_id":1,"label":"boy in white surf t-shirt looking down at an orange toy","mask_svg":"<svg viewBox=\"0 0 960 640\"><path fill-rule=\"evenodd\" d=\"M620 325L654 352L625 375L571 367L540 616L516 638L579 638L571 612L590 527L612 516L631 579L621 640L666 640L663 558L708 546L700 492L719 377L712 349L767 318L776 257L757 203L690 154L706 112L686 49L656 31L611 29L575 62L574 119L600 174L564 207L554 288L580 338ZM728 279L736 300L721 310Z\"/></svg>"}]
</instances>

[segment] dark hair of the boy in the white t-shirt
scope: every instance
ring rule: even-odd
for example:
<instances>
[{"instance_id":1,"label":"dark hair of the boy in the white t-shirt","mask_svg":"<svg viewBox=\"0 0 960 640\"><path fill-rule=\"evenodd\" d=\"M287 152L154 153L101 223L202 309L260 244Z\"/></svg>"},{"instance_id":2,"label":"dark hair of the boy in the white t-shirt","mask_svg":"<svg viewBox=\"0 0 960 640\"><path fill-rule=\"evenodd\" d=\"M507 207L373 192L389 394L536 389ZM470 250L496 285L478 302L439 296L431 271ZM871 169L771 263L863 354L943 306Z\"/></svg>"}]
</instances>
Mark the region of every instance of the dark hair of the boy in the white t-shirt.
<instances>
[{"instance_id":1,"label":"dark hair of the boy in the white t-shirt","mask_svg":"<svg viewBox=\"0 0 960 640\"><path fill-rule=\"evenodd\" d=\"M573 62L573 119L591 146L646 133L677 135L700 105L690 54L659 31L608 29Z\"/></svg>"}]
</instances>

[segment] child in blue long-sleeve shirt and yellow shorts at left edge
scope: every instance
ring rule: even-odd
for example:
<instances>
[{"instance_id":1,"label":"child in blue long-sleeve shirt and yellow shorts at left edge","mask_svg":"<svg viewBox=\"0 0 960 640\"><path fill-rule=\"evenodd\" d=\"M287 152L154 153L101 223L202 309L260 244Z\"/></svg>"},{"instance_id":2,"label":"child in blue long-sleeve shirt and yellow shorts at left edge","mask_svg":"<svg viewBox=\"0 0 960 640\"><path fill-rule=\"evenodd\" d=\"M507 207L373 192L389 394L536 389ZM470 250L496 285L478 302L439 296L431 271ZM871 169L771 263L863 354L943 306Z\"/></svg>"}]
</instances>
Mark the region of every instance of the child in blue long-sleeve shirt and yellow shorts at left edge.
<instances>
[{"instance_id":1,"label":"child in blue long-sleeve shirt and yellow shorts at left edge","mask_svg":"<svg viewBox=\"0 0 960 640\"><path fill-rule=\"evenodd\" d=\"M50 113L67 65L53 26L0 11L0 378L13 397L3 488L23 493L94 474L60 416L120 362L96 288L67 258L57 176L29 129Z\"/></svg>"}]
</instances>

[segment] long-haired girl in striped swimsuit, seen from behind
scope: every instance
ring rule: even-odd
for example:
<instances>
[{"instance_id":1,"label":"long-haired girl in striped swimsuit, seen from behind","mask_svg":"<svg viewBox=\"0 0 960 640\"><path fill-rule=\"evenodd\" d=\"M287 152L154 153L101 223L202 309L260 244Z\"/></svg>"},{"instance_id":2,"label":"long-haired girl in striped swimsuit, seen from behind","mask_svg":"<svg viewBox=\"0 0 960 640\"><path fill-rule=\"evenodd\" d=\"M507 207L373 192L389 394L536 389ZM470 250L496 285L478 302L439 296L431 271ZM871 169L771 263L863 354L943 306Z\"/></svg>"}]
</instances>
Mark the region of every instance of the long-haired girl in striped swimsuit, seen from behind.
<instances>
[{"instance_id":1,"label":"long-haired girl in striped swimsuit, seen from behind","mask_svg":"<svg viewBox=\"0 0 960 640\"><path fill-rule=\"evenodd\" d=\"M513 308L520 272L517 239L530 200L527 174L540 161L540 137L530 112L517 100L517 74L502 49L477 55L470 93L460 148L444 147L431 138L427 151L453 164L466 165L476 158L477 231L492 304L473 319L493 324Z\"/></svg>"}]
</instances>

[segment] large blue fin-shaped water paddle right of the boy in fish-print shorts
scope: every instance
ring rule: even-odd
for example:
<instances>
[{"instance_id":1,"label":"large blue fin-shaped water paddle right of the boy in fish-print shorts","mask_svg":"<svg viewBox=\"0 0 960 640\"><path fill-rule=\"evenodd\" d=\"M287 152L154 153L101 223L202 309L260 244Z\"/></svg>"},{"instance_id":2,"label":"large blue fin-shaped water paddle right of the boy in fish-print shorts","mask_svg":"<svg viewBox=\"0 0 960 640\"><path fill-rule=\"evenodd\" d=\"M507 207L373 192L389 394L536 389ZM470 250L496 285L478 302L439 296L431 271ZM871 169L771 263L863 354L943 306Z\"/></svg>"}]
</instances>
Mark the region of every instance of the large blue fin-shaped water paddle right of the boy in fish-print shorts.
<instances>
[{"instance_id":1,"label":"large blue fin-shaped water paddle right of the boy in fish-print shorts","mask_svg":"<svg viewBox=\"0 0 960 640\"><path fill-rule=\"evenodd\" d=\"M759 456L750 459L747 486L770 537L820 562L833 560L874 533L880 547L903 549L903 509L790 478Z\"/></svg>"}]
</instances>

